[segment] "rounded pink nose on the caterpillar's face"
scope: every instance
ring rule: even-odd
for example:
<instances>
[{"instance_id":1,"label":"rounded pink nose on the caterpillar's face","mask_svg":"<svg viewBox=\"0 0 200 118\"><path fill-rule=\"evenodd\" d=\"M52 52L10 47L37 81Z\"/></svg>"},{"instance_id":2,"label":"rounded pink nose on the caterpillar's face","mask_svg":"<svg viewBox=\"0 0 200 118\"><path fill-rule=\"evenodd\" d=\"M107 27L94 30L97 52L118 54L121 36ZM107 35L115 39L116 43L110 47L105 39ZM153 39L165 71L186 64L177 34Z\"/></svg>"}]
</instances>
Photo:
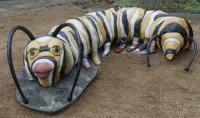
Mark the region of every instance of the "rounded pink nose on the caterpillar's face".
<instances>
[{"instance_id":1,"label":"rounded pink nose on the caterpillar's face","mask_svg":"<svg viewBox=\"0 0 200 118\"><path fill-rule=\"evenodd\" d=\"M49 74L53 71L52 66L49 63L38 63L33 68L33 73L40 79L47 79Z\"/></svg>"}]
</instances>

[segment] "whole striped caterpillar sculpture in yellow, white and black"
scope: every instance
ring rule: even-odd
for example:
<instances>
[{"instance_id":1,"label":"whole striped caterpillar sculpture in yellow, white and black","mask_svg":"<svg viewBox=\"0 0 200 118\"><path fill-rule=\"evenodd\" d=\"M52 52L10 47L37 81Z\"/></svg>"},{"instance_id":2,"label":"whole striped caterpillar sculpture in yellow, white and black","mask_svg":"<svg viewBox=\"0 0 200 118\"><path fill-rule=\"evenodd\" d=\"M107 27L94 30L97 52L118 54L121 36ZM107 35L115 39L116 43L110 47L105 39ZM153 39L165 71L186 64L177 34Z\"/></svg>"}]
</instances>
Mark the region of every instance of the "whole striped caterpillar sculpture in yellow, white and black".
<instances>
[{"instance_id":1,"label":"whole striped caterpillar sculpture in yellow, white and black","mask_svg":"<svg viewBox=\"0 0 200 118\"><path fill-rule=\"evenodd\" d=\"M77 63L90 68L90 54L93 62L99 65L99 48L104 48L102 57L106 57L111 44L119 44L115 52L120 53L126 43L132 42L128 51L148 54L147 66L150 66L149 53L156 47L172 60L193 43L193 57L186 70L190 68L197 47L187 20L168 16L160 10L146 11L137 7L91 12L53 27L42 37L34 37L25 27L17 26L10 32L11 44L16 30L24 31L31 39L24 50L26 72L30 80L37 79L44 87L59 81L60 76L69 73Z\"/></svg>"}]
</instances>

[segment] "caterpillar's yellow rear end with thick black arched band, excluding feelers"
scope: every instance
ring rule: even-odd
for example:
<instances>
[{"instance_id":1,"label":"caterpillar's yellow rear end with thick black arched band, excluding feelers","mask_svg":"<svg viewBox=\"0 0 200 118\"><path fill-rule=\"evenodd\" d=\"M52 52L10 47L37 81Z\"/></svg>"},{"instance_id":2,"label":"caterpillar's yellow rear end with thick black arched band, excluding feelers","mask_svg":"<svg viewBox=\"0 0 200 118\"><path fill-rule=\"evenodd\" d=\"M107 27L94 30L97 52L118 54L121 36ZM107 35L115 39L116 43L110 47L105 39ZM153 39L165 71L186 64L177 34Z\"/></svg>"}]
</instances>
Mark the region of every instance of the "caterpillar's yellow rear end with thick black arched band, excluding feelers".
<instances>
[{"instance_id":1,"label":"caterpillar's yellow rear end with thick black arched band, excluding feelers","mask_svg":"<svg viewBox=\"0 0 200 118\"><path fill-rule=\"evenodd\" d=\"M168 60L172 60L180 51L190 47L193 31L187 20L166 16L153 23L151 36L155 35L160 35L157 46L163 50Z\"/></svg>"}]
</instances>

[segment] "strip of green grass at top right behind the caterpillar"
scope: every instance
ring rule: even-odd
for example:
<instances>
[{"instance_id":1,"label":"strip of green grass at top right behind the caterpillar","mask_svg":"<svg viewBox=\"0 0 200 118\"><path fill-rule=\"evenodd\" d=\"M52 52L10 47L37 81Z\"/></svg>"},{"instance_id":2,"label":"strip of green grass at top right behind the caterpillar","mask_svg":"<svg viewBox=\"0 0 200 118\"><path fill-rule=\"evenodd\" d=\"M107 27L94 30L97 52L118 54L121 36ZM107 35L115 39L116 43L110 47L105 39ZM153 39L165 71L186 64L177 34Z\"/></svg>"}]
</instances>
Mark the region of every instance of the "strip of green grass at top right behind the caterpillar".
<instances>
[{"instance_id":1,"label":"strip of green grass at top right behind the caterpillar","mask_svg":"<svg viewBox=\"0 0 200 118\"><path fill-rule=\"evenodd\" d=\"M200 0L115 0L119 6L138 6L146 9L200 13Z\"/></svg>"}]
</instances>

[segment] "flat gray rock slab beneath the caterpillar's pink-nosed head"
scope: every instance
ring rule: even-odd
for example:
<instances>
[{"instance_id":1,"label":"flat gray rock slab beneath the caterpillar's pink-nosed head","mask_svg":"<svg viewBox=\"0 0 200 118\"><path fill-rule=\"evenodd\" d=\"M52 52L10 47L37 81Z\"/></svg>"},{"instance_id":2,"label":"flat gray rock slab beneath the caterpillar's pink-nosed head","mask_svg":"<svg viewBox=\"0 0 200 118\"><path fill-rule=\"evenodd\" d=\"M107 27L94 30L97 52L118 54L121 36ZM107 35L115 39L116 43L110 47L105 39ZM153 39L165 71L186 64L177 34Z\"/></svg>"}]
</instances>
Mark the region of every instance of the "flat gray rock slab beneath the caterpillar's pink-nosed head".
<instances>
[{"instance_id":1,"label":"flat gray rock slab beneath the caterpillar's pink-nosed head","mask_svg":"<svg viewBox=\"0 0 200 118\"><path fill-rule=\"evenodd\" d=\"M74 81L75 68L72 69L68 75L62 77L61 81L48 88L42 87L37 81L28 80L26 72L22 71L22 73L18 76L19 83L23 93L29 99L29 103L24 104L18 90L16 92L16 99L23 106L33 110L48 113L57 112L68 107L75 100L77 100L88 85L95 79L96 74L97 67L93 63L91 69L86 70L82 68L74 91L73 99L71 102L68 102L67 96L69 95L69 91Z\"/></svg>"}]
</instances>

